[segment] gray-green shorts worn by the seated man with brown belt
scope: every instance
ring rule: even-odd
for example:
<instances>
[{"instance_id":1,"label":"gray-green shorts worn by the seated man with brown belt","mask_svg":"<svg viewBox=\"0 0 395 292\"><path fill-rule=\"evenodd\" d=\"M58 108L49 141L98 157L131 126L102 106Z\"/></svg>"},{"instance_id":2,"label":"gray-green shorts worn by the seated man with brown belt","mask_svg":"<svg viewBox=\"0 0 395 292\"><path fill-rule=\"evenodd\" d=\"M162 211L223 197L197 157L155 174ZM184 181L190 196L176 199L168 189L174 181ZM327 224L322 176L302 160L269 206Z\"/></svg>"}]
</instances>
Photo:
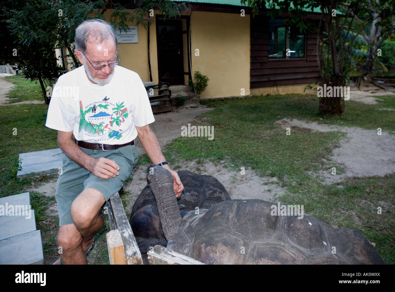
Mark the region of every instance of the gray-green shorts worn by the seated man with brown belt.
<instances>
[{"instance_id":1,"label":"gray-green shorts worn by the seated man with brown belt","mask_svg":"<svg viewBox=\"0 0 395 292\"><path fill-rule=\"evenodd\" d=\"M58 203L59 226L74 223L70 212L71 203L84 189L94 188L101 192L105 200L108 201L111 195L122 188L124 181L130 176L133 166L139 159L139 154L134 145L107 151L80 148L96 159L105 157L114 160L119 166L119 175L108 179L100 178L64 155L62 174L59 175L55 192L56 202Z\"/></svg>"}]
</instances>

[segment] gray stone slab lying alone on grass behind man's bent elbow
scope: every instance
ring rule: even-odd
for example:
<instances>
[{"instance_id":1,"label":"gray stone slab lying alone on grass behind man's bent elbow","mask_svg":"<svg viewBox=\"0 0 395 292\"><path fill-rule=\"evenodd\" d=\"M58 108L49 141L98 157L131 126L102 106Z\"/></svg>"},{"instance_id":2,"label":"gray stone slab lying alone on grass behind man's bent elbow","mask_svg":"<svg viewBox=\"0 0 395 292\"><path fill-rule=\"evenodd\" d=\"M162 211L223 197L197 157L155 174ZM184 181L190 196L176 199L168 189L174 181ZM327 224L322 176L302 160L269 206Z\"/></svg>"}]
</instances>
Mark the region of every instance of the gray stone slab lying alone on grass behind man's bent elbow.
<instances>
[{"instance_id":1,"label":"gray stone slab lying alone on grass behind man's bent elbow","mask_svg":"<svg viewBox=\"0 0 395 292\"><path fill-rule=\"evenodd\" d=\"M21 153L19 159L22 159L22 170L18 171L17 177L58 173L59 167L63 166L63 156L60 148Z\"/></svg>"}]
</instances>

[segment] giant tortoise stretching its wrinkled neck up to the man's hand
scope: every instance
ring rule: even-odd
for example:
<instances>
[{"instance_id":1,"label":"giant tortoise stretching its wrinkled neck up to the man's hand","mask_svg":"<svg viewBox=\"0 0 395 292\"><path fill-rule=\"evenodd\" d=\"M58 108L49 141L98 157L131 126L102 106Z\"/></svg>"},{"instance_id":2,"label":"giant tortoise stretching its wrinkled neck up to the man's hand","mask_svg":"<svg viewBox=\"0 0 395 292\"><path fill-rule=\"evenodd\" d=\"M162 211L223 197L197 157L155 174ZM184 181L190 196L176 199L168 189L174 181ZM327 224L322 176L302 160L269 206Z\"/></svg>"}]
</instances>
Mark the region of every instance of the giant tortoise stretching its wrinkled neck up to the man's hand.
<instances>
[{"instance_id":1,"label":"giant tortoise stretching its wrinkled neck up to the man's hand","mask_svg":"<svg viewBox=\"0 0 395 292\"><path fill-rule=\"evenodd\" d=\"M187 180L182 181L187 188ZM203 263L386 264L357 230L332 228L312 216L272 215L276 203L259 199L228 199L182 217L169 171L149 165L147 183L167 248ZM133 223L139 225L138 220Z\"/></svg>"}]
</instances>

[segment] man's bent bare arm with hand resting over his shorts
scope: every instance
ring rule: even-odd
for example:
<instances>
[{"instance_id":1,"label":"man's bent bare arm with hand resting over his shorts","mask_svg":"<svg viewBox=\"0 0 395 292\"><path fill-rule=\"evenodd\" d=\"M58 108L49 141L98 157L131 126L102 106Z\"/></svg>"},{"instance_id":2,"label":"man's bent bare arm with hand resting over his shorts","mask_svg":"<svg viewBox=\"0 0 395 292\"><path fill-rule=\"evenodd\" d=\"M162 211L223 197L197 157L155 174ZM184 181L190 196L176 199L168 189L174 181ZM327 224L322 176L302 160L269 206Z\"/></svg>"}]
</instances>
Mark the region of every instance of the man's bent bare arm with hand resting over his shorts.
<instances>
[{"instance_id":1,"label":"man's bent bare arm with hand resting over his shorts","mask_svg":"<svg viewBox=\"0 0 395 292\"><path fill-rule=\"evenodd\" d=\"M58 131L58 145L64 154L100 178L115 177L119 174L119 166L115 161L104 157L96 159L89 156L73 142L72 135L73 131Z\"/></svg>"}]
</instances>

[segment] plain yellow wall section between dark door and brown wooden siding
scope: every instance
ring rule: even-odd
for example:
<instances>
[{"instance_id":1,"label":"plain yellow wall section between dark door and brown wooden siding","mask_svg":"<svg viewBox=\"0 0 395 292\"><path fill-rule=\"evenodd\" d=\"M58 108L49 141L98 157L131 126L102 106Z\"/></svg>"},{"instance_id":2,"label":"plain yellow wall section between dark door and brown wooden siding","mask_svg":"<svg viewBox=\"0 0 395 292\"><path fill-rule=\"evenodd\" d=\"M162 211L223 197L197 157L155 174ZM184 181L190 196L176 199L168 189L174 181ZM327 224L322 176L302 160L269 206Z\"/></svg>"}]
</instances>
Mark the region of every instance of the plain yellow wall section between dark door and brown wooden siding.
<instances>
[{"instance_id":1,"label":"plain yellow wall section between dark door and brown wooden siding","mask_svg":"<svg viewBox=\"0 0 395 292\"><path fill-rule=\"evenodd\" d=\"M210 79L201 99L250 94L250 15L193 11L191 54L192 77Z\"/></svg>"}]
</instances>

